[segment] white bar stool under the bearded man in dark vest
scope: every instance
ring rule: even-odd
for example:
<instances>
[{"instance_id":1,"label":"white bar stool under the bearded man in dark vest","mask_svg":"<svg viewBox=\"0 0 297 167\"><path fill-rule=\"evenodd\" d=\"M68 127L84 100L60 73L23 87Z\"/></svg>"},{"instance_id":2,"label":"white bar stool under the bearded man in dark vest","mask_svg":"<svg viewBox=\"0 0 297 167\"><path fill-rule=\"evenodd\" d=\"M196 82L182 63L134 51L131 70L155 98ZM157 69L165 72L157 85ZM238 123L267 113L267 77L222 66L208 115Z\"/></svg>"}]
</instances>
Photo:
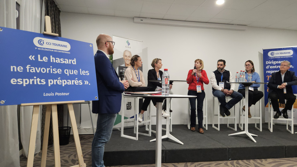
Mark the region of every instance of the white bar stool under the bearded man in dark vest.
<instances>
[{"instance_id":1,"label":"white bar stool under the bearded man in dark vest","mask_svg":"<svg viewBox=\"0 0 297 167\"><path fill-rule=\"evenodd\" d=\"M213 96L213 106L215 104L214 103L214 98L217 98L217 97ZM231 99L231 98L232 97L230 97L230 96L226 96L226 100L227 101L228 101L228 99ZM220 105L220 102L218 101L218 109L217 109L217 111L214 109L214 113L213 113L214 116L217 116L218 117L218 127L214 126L214 121L212 122L212 127L215 128L215 129L217 129L219 131L220 130L220 118L226 118L227 119L227 127L230 128L230 129L232 129L232 130L234 130L234 131L237 131L236 111L235 111L235 106L236 105L233 106L234 116L225 116L225 117L222 117L220 115L219 105ZM232 127L229 126L229 119L234 119L234 128L232 128Z\"/></svg>"}]
</instances>

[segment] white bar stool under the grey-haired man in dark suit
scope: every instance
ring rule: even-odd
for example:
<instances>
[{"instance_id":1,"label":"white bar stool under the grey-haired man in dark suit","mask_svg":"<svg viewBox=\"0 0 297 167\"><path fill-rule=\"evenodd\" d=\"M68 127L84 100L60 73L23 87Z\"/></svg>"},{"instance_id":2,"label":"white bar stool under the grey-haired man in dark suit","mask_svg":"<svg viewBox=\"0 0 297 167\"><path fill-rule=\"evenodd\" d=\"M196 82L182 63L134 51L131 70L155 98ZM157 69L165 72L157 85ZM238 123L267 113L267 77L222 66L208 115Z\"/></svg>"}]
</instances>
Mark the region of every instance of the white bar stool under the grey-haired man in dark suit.
<instances>
[{"instance_id":1,"label":"white bar stool under the grey-haired man in dark suit","mask_svg":"<svg viewBox=\"0 0 297 167\"><path fill-rule=\"evenodd\" d=\"M285 100L287 102L287 100ZM287 122L287 131L290 132L290 133L294 133L294 122L293 122L293 119L294 119L294 116L293 116L293 106L292 106L292 109L291 110L288 110L287 112L291 112L291 118L289 117L288 119L286 118L277 118L275 119L273 117L273 108L272 108L272 105L271 105L271 101L270 101L270 98L268 98L268 111L270 112L270 118L268 120L268 129L270 132L272 132L272 128L273 128L273 120L285 120ZM282 116L281 116L282 117ZM288 126L288 123L289 121L291 121L291 130L289 130L289 126Z\"/></svg>"}]
</instances>

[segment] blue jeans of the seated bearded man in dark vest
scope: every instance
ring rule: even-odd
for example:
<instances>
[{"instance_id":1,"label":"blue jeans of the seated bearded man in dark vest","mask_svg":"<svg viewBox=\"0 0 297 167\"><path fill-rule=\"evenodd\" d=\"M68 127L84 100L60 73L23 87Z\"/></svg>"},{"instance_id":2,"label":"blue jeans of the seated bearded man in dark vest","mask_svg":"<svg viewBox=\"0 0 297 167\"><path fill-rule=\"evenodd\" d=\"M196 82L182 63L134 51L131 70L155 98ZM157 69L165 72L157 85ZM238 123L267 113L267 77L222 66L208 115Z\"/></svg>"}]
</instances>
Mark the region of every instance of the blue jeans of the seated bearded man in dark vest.
<instances>
[{"instance_id":1,"label":"blue jeans of the seated bearded man in dark vest","mask_svg":"<svg viewBox=\"0 0 297 167\"><path fill-rule=\"evenodd\" d=\"M226 95L220 90L213 90L212 94L218 98L220 104L225 106L228 110L232 108L235 104L237 104L242 99L242 94L234 91L230 97L232 99L226 103Z\"/></svg>"}]
</instances>

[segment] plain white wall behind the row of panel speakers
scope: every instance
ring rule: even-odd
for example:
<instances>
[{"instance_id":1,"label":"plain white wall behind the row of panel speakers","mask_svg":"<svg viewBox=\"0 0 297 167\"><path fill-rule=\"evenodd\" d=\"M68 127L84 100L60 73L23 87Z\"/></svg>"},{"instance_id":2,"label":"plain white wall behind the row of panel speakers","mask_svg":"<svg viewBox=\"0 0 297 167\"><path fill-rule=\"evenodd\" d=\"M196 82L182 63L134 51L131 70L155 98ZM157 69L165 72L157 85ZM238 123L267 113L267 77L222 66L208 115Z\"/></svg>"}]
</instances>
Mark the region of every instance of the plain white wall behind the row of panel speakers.
<instances>
[{"instance_id":1,"label":"plain white wall behind the row of panel speakers","mask_svg":"<svg viewBox=\"0 0 297 167\"><path fill-rule=\"evenodd\" d=\"M208 78L216 70L218 59L226 60L226 69L235 74L244 70L244 63L252 60L257 72L260 70L258 52L274 47L296 46L297 31L271 28L247 27L246 31L189 28L133 23L133 18L87 15L61 12L62 37L94 44L99 34L119 35L143 40L150 63L161 58L163 69L168 68L170 79L185 80L193 69L194 61L204 61ZM116 41L115 41L116 42ZM263 65L261 65L261 68ZM143 71L146 73L146 71ZM186 95L188 84L175 83L173 92ZM205 85L208 98L208 123L212 123L211 85ZM173 124L187 123L188 99L173 99ZM89 111L85 111L88 120ZM94 121L96 124L96 120Z\"/></svg>"}]
</instances>

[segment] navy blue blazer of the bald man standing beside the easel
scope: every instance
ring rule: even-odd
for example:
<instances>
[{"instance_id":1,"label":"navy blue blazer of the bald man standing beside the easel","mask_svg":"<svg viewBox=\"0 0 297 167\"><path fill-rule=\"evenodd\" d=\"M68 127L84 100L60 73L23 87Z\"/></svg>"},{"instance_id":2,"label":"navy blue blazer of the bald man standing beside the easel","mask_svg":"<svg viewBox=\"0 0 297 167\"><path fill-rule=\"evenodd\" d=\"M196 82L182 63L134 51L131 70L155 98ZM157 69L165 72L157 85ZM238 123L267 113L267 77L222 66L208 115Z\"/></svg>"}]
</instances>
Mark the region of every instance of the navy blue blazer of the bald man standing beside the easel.
<instances>
[{"instance_id":1,"label":"navy blue blazer of the bald man standing beside the easel","mask_svg":"<svg viewBox=\"0 0 297 167\"><path fill-rule=\"evenodd\" d=\"M116 114L121 110L124 85L119 82L118 74L102 51L98 50L94 59L99 97L98 101L92 101L92 112L94 114Z\"/></svg>"}]
</instances>

